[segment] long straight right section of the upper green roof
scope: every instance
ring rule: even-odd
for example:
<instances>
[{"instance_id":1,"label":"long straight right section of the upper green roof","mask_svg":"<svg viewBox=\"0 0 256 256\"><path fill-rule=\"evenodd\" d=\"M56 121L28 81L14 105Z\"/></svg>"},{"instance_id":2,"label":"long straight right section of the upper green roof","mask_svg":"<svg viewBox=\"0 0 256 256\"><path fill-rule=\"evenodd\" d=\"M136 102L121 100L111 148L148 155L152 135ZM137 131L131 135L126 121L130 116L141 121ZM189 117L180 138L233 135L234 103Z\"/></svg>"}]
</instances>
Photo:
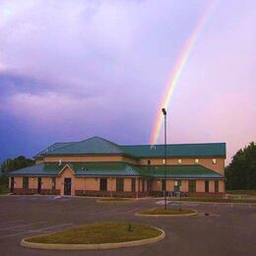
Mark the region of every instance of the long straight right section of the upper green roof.
<instances>
[{"instance_id":1,"label":"long straight right section of the upper green roof","mask_svg":"<svg viewBox=\"0 0 256 256\"><path fill-rule=\"evenodd\" d=\"M127 154L137 158L164 156L164 145L120 146ZM168 144L167 157L225 157L225 143Z\"/></svg>"}]
</instances>

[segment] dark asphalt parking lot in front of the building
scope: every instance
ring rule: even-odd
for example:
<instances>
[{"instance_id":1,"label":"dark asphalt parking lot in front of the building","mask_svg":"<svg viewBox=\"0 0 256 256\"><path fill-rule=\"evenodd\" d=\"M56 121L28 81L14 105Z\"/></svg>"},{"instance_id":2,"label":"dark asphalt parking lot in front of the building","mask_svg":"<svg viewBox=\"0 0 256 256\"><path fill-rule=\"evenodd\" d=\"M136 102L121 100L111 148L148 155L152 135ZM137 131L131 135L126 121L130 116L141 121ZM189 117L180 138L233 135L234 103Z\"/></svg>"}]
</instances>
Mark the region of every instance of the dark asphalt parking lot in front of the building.
<instances>
[{"instance_id":1,"label":"dark asphalt parking lot in front of the building","mask_svg":"<svg viewBox=\"0 0 256 256\"><path fill-rule=\"evenodd\" d=\"M162 205L160 199L98 203L96 198L1 196L1 255L256 255L256 205L182 203L196 217L136 217L140 209ZM168 204L178 207L179 203ZM207 215L208 216L207 216ZM23 237L50 233L96 221L125 221L162 228L156 244L103 251L43 251L24 248Z\"/></svg>"}]
</instances>

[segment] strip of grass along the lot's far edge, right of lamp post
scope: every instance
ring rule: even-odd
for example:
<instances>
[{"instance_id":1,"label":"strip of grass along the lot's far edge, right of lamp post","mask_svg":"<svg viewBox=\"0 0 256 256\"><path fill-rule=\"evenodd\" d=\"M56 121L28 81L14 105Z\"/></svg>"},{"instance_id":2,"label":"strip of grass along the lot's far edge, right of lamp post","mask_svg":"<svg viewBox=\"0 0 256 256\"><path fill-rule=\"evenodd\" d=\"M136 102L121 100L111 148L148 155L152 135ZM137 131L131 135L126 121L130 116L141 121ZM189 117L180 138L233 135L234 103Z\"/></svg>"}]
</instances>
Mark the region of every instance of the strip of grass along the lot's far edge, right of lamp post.
<instances>
[{"instance_id":1,"label":"strip of grass along the lot's far edge, right of lamp post","mask_svg":"<svg viewBox=\"0 0 256 256\"><path fill-rule=\"evenodd\" d=\"M179 201L179 199L171 199L169 201ZM216 202L216 203L256 203L256 200L249 199L227 199L220 197L182 197L180 201L190 202Z\"/></svg>"}]
</instances>

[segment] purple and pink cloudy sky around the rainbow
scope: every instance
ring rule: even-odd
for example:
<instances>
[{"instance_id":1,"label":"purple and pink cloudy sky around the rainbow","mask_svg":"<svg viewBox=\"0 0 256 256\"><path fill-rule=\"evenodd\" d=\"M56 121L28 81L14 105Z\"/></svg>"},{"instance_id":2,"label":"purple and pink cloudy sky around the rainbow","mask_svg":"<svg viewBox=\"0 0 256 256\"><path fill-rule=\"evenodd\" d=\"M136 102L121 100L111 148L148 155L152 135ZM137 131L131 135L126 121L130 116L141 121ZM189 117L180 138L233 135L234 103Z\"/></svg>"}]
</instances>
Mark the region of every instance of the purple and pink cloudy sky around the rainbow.
<instances>
[{"instance_id":1,"label":"purple and pink cloudy sky around the rainbow","mask_svg":"<svg viewBox=\"0 0 256 256\"><path fill-rule=\"evenodd\" d=\"M0 0L0 161L101 136L148 144L210 0ZM256 1L217 1L168 106L168 143L256 140ZM160 141L162 143L162 136Z\"/></svg>"}]
</instances>

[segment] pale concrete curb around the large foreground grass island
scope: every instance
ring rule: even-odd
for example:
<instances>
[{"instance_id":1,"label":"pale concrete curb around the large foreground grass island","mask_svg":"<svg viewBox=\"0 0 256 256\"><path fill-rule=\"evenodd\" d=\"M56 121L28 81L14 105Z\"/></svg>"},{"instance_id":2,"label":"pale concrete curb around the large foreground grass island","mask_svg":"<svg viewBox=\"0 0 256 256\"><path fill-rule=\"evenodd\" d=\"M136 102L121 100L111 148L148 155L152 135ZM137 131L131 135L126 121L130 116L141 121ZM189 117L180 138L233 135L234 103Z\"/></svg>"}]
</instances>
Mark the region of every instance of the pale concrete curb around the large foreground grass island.
<instances>
[{"instance_id":1,"label":"pale concrete curb around the large foreground grass island","mask_svg":"<svg viewBox=\"0 0 256 256\"><path fill-rule=\"evenodd\" d=\"M154 226L152 226L154 227ZM103 249L117 249L123 247L133 247L146 245L150 243L159 242L165 237L165 232L158 228L161 234L157 237L137 240L137 241L127 241L127 242L116 242L116 243L100 243L100 244L52 244L52 243L35 243L28 242L26 239L32 237L25 237L21 241L21 245L24 247L32 248L32 249L43 249L43 250L103 250Z\"/></svg>"}]
</instances>

